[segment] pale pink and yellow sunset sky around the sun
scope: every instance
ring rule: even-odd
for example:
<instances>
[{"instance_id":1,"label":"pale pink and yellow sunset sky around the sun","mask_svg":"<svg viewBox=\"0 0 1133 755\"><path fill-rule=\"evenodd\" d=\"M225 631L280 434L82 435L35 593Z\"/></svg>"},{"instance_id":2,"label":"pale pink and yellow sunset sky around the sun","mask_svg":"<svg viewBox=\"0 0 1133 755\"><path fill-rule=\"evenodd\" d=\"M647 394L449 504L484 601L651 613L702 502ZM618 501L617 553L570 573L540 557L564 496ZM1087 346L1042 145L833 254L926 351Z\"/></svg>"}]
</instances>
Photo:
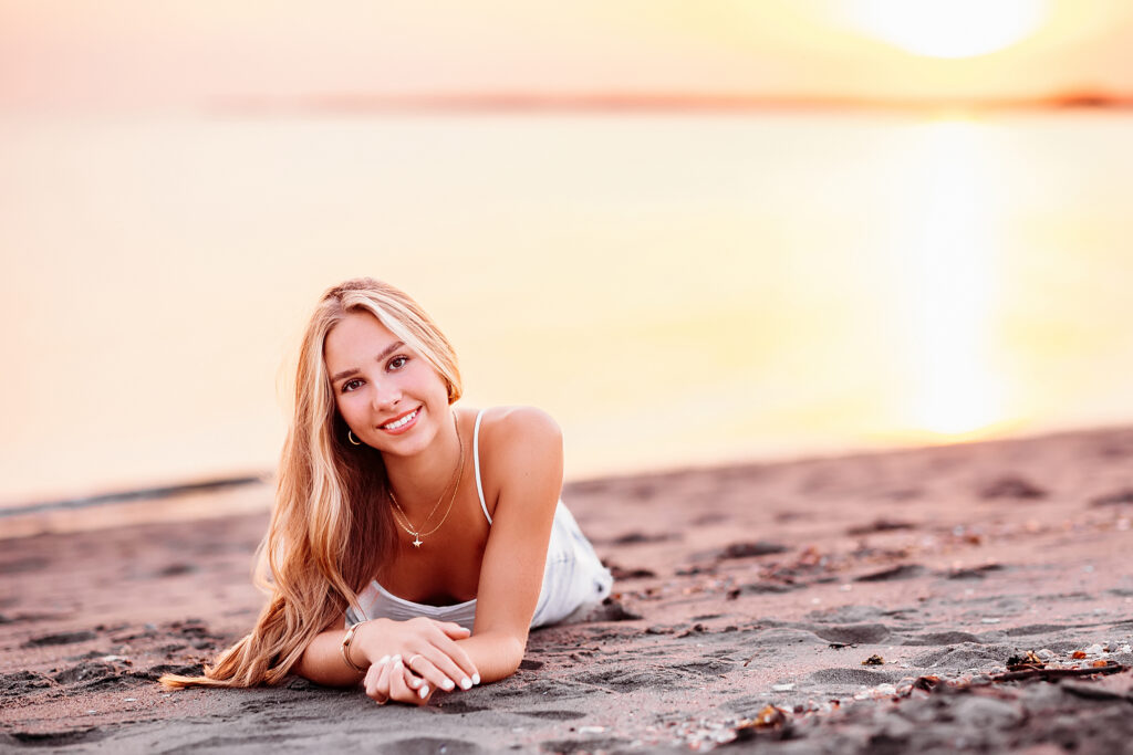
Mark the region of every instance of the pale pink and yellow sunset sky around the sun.
<instances>
[{"instance_id":1,"label":"pale pink and yellow sunset sky around the sun","mask_svg":"<svg viewBox=\"0 0 1133 755\"><path fill-rule=\"evenodd\" d=\"M0 106L195 108L320 93L1133 92L1127 0L1049 0L1032 37L965 60L919 58L840 23L838 6L860 1L0 0Z\"/></svg>"}]
</instances>

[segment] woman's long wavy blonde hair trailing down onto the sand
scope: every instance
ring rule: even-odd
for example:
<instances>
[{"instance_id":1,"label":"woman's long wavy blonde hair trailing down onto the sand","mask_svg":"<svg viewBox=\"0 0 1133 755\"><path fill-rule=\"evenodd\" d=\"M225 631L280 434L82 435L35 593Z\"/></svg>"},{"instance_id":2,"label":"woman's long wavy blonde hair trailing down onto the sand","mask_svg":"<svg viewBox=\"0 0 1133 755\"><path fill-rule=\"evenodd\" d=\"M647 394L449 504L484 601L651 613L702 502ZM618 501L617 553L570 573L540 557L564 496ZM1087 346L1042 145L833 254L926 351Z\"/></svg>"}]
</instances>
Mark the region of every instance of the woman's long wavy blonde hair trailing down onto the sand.
<instances>
[{"instance_id":1,"label":"woman's long wavy blonde hair trailing down onto the sand","mask_svg":"<svg viewBox=\"0 0 1133 755\"><path fill-rule=\"evenodd\" d=\"M384 565L395 543L382 455L347 441L323 346L348 314L366 311L436 370L449 403L461 394L457 355L444 334L404 292L373 278L329 289L303 337L295 414L280 460L271 526L259 544L256 584L269 593L252 632L222 652L203 677L167 675L169 687L278 684L315 635Z\"/></svg>"}]
</instances>

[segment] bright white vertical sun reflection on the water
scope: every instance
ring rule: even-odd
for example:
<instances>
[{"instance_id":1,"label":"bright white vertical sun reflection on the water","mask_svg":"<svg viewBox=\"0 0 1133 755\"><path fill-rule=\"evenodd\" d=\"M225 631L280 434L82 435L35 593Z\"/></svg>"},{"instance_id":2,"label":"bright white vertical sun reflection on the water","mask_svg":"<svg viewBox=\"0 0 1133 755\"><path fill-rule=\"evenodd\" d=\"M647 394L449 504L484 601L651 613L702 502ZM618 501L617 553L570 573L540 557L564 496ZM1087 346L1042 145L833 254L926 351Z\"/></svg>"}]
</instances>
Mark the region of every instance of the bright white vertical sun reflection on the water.
<instances>
[{"instance_id":1,"label":"bright white vertical sun reflection on the water","mask_svg":"<svg viewBox=\"0 0 1133 755\"><path fill-rule=\"evenodd\" d=\"M994 351L1002 239L980 128L966 120L922 127L914 168L921 190L905 195L897 215L905 218L906 419L949 440L979 437L1006 419Z\"/></svg>"}]
</instances>

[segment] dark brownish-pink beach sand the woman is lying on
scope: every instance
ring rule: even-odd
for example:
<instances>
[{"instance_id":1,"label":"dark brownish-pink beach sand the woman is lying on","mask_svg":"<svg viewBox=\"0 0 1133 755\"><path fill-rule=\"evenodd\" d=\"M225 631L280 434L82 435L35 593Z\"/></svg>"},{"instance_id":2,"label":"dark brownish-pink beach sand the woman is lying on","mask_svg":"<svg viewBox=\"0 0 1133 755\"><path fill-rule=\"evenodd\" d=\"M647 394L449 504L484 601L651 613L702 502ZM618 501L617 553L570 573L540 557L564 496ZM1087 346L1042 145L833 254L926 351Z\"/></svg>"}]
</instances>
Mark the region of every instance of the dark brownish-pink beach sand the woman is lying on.
<instances>
[{"instance_id":1,"label":"dark brownish-pink beach sand the woman is lying on","mask_svg":"<svg viewBox=\"0 0 1133 755\"><path fill-rule=\"evenodd\" d=\"M0 541L0 749L1133 752L1133 429L563 496L613 600L424 709L157 685L249 628L264 514Z\"/></svg>"}]
</instances>

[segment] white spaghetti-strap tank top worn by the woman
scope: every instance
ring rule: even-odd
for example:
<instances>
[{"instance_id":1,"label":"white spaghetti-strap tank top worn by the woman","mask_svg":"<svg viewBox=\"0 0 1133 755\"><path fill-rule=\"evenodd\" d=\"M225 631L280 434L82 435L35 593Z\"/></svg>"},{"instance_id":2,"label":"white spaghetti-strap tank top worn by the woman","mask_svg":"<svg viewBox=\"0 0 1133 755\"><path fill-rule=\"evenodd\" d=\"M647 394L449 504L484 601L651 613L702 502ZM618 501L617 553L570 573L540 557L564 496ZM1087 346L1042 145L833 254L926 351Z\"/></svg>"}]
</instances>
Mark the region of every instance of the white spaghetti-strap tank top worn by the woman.
<instances>
[{"instance_id":1,"label":"white spaghetti-strap tank top worn by the woman","mask_svg":"<svg viewBox=\"0 0 1133 755\"><path fill-rule=\"evenodd\" d=\"M484 500L484 483L480 480L480 420L482 409L476 414L472 428L472 469L476 473L476 495L480 499L480 508L488 526L492 515L488 514ZM586 539L578 523L562 500L555 507L555 518L551 525L551 541L547 546L547 563L543 569L543 586L539 590L539 602L531 617L531 626L544 626L561 621L587 606L597 604L613 585L613 576L602 565L594 547ZM476 599L466 600L452 606L428 606L415 603L399 598L378 584L370 581L358 594L358 604L363 610L359 615L353 607L347 609L347 626L366 619L387 618L399 621L424 616L437 621L454 621L468 629L476 621Z\"/></svg>"}]
</instances>

